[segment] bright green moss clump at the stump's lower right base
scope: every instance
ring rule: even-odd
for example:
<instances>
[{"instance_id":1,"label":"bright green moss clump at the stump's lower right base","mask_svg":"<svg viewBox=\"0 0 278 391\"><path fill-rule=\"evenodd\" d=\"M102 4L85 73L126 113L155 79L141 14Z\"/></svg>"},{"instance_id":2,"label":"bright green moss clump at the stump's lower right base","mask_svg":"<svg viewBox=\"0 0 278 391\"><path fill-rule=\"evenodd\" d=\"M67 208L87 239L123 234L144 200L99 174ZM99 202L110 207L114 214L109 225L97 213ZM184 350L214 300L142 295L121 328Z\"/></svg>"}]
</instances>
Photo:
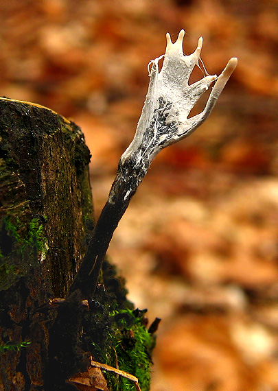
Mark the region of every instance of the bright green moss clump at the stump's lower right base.
<instances>
[{"instance_id":1,"label":"bright green moss clump at the stump's lower right base","mask_svg":"<svg viewBox=\"0 0 278 391\"><path fill-rule=\"evenodd\" d=\"M150 353L154 346L154 337L148 333L144 324L145 311L120 310L111 313L111 333L106 341L106 364L124 370L139 380L142 391L150 389ZM109 386L113 391L136 390L132 381L111 372L106 373ZM115 385L116 384L116 385ZM114 386L113 386L114 385Z\"/></svg>"}]
</instances>

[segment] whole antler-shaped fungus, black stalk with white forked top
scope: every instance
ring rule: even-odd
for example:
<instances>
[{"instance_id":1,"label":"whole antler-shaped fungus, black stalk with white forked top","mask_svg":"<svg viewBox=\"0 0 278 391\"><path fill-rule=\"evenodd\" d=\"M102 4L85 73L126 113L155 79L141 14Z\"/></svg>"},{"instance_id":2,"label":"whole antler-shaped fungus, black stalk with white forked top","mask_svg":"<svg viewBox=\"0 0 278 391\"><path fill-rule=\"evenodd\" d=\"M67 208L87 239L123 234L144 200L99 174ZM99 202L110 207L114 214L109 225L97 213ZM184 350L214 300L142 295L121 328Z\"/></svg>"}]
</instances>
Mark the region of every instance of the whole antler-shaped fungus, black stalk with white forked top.
<instances>
[{"instance_id":1,"label":"whole antler-shaped fungus, black stalk with white forked top","mask_svg":"<svg viewBox=\"0 0 278 391\"><path fill-rule=\"evenodd\" d=\"M183 54L184 30L172 43L167 34L165 55L152 60L150 85L146 102L138 122L135 138L121 156L117 176L109 193L108 201L95 226L88 250L76 274L69 294L77 289L83 298L93 298L99 279L102 261L114 230L124 215L132 195L148 171L157 153L167 145L189 136L211 113L222 89L229 80L238 62L231 58L227 67L217 75L205 75L194 84L188 84L189 76L200 60L202 38L193 54ZM164 58L159 71L159 60ZM188 118L200 96L215 82L207 104L194 117Z\"/></svg>"}]
</instances>

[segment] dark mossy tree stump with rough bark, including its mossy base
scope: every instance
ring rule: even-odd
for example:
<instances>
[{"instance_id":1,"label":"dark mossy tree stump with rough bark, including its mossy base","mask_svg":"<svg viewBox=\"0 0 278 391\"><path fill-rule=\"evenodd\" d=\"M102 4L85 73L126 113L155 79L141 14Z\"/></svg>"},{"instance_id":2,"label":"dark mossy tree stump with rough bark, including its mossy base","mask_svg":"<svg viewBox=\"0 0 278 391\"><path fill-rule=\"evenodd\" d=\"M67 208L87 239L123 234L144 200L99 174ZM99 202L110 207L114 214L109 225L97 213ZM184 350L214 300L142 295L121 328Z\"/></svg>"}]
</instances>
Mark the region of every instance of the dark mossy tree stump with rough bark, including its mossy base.
<instances>
[{"instance_id":1,"label":"dark mossy tree stump with rough bark, including its mossy base","mask_svg":"<svg viewBox=\"0 0 278 391\"><path fill-rule=\"evenodd\" d=\"M106 259L93 298L70 289L95 226L89 160L73 122L0 98L0 391L76 390L91 357L149 390L157 321L148 331Z\"/></svg>"}]
</instances>

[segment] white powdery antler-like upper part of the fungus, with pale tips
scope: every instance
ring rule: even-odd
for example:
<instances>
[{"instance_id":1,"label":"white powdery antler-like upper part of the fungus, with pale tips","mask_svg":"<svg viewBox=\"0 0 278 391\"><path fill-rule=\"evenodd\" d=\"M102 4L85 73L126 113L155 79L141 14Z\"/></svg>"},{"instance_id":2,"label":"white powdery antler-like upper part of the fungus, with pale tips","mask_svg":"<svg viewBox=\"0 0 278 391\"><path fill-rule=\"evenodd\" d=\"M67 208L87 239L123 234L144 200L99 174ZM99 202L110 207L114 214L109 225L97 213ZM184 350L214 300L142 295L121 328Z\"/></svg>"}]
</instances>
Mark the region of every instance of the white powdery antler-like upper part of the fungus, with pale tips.
<instances>
[{"instance_id":1,"label":"white powdery antler-like upper part of the fungus, with pale tips","mask_svg":"<svg viewBox=\"0 0 278 391\"><path fill-rule=\"evenodd\" d=\"M220 76L207 75L189 85L189 77L200 60L202 37L199 38L194 53L185 56L183 54L184 36L185 31L182 29L176 42L172 43L170 34L167 33L165 54L150 62L152 69L146 102L135 138L121 156L121 163L124 163L130 155L136 154L137 165L142 163L150 165L160 150L194 132L211 113L216 100L236 67L238 59L231 58ZM159 60L163 57L163 66L159 71ZM189 112L202 93L205 93L215 81L216 84L209 95L205 109L200 114L188 118Z\"/></svg>"}]
</instances>

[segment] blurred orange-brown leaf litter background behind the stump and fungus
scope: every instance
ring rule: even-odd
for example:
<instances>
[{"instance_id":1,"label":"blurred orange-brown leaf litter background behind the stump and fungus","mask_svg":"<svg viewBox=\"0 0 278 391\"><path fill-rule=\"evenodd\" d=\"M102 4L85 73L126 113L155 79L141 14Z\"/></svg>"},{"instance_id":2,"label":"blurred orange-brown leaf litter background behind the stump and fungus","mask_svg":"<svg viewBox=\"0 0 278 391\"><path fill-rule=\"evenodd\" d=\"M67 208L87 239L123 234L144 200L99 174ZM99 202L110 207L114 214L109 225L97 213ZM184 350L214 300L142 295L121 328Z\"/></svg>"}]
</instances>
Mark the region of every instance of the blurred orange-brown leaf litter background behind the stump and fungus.
<instances>
[{"instance_id":1,"label":"blurred orange-brown leaf litter background behind the stump and fungus","mask_svg":"<svg viewBox=\"0 0 278 391\"><path fill-rule=\"evenodd\" d=\"M152 163L108 254L163 319L152 391L278 390L277 1L2 0L0 21L0 93L82 128L96 215L165 33L185 29L185 54L202 35L211 74L238 57L211 117Z\"/></svg>"}]
</instances>

